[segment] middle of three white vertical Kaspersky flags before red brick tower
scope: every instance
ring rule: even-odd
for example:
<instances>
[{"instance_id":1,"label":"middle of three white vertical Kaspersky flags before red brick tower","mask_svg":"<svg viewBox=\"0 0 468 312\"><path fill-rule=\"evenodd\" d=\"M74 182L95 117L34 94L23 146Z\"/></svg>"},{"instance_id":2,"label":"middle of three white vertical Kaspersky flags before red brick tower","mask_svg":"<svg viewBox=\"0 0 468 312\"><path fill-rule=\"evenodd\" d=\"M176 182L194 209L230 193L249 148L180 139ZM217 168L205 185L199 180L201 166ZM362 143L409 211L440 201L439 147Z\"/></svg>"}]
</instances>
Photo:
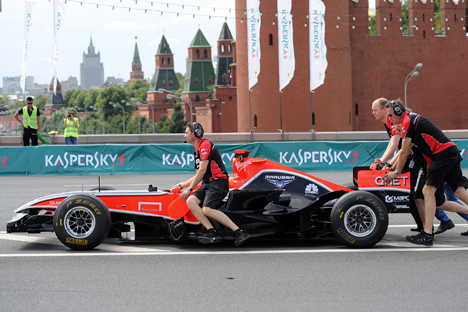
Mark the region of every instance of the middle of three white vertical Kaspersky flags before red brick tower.
<instances>
[{"instance_id":1,"label":"middle of three white vertical Kaspersky flags before red brick tower","mask_svg":"<svg viewBox=\"0 0 468 312\"><path fill-rule=\"evenodd\" d=\"M296 58L294 57L293 22L291 0L278 0L278 59L280 91L294 77Z\"/></svg>"}]
</instances>

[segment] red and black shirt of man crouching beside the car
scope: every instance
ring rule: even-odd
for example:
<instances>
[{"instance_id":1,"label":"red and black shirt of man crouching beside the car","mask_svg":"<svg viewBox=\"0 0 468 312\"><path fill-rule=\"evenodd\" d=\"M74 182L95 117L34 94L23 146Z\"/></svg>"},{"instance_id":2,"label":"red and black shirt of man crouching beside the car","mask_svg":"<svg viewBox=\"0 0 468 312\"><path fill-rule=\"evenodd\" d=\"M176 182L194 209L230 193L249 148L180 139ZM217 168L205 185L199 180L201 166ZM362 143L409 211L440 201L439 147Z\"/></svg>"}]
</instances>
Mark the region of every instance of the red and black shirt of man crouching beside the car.
<instances>
[{"instance_id":1,"label":"red and black shirt of man crouching beside the car","mask_svg":"<svg viewBox=\"0 0 468 312\"><path fill-rule=\"evenodd\" d=\"M208 168L203 176L203 183L210 183L214 179L229 179L226 168L224 167L221 154L218 152L216 146L209 140L202 138L197 147L195 148L195 169L198 171L200 162L208 160Z\"/></svg>"}]
</instances>

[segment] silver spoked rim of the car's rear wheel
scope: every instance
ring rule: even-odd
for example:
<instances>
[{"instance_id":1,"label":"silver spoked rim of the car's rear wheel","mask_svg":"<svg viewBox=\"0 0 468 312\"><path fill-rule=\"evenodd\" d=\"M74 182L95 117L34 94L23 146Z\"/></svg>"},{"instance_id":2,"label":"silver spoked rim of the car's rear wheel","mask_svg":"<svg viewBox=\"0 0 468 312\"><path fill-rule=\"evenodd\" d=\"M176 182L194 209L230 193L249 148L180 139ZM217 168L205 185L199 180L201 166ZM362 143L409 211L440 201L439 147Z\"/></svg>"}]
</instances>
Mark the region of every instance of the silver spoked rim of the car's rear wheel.
<instances>
[{"instance_id":1,"label":"silver spoked rim of the car's rear wheel","mask_svg":"<svg viewBox=\"0 0 468 312\"><path fill-rule=\"evenodd\" d=\"M355 205L346 211L345 227L348 232L357 237L364 237L374 231L377 217L374 211L365 205Z\"/></svg>"}]
</instances>

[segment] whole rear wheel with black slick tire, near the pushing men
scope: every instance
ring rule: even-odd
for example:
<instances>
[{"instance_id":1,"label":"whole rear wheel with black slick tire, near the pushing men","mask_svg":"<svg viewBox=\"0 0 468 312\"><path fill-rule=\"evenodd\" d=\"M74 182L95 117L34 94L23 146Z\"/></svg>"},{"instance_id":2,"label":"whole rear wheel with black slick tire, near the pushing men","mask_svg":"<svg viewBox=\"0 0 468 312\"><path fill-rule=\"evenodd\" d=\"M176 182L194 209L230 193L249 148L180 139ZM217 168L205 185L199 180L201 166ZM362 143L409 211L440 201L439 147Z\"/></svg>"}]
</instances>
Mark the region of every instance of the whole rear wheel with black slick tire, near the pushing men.
<instances>
[{"instance_id":1,"label":"whole rear wheel with black slick tire, near the pushing men","mask_svg":"<svg viewBox=\"0 0 468 312\"><path fill-rule=\"evenodd\" d=\"M388 213L377 196L355 191L337 200L330 222L333 234L340 242L349 247L367 248L384 237L388 228Z\"/></svg>"}]
</instances>

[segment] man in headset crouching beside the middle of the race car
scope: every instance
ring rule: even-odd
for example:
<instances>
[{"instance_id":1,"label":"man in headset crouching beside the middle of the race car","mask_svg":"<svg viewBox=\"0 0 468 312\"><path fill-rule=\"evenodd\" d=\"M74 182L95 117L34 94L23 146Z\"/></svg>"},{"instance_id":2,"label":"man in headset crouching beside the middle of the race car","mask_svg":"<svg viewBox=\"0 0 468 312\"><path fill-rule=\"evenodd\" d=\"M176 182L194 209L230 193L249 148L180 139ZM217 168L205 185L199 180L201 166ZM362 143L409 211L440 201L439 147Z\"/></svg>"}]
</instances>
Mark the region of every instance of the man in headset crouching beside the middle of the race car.
<instances>
[{"instance_id":1,"label":"man in headset crouching beside the middle of the race car","mask_svg":"<svg viewBox=\"0 0 468 312\"><path fill-rule=\"evenodd\" d=\"M207 229L206 234L200 235L198 241L202 244L216 244L222 237L214 229L208 218L216 220L234 231L234 244L239 246L249 238L249 234L239 229L229 217L217 210L229 192L229 176L224 167L221 155L216 146L203 138L203 127L200 123L189 122L185 129L187 143L195 147L195 169L197 173L185 182L179 183L180 189L188 187L180 198L187 201L187 205L195 218ZM192 195L193 189L202 182ZM176 187L177 187L176 186Z\"/></svg>"}]
</instances>

